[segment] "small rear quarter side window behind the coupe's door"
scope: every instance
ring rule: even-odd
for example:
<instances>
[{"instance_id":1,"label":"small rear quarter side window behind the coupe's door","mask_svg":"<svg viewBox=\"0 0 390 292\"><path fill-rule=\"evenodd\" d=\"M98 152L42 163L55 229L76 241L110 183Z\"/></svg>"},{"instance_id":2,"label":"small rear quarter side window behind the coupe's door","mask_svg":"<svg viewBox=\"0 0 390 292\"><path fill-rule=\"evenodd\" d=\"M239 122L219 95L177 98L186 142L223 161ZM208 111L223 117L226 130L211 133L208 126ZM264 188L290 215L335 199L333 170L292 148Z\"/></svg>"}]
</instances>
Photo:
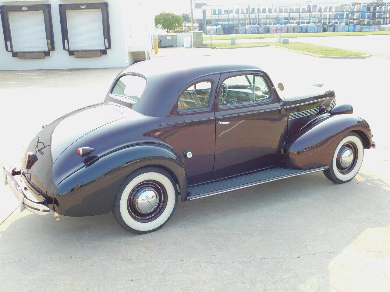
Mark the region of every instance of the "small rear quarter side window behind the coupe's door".
<instances>
[{"instance_id":1,"label":"small rear quarter side window behind the coupe's door","mask_svg":"<svg viewBox=\"0 0 390 292\"><path fill-rule=\"evenodd\" d=\"M209 107L212 87L211 81L202 81L191 85L181 94L177 107L182 111Z\"/></svg>"}]
</instances>

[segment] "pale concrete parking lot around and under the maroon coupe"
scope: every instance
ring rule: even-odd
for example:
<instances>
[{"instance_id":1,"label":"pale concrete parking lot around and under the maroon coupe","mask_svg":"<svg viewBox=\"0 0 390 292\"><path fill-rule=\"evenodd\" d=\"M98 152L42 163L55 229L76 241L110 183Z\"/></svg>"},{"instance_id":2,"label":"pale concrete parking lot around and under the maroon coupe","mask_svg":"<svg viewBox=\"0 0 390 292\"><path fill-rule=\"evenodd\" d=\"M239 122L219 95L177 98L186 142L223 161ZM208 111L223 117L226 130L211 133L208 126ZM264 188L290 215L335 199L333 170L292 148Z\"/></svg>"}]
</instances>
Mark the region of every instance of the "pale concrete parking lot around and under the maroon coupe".
<instances>
[{"instance_id":1,"label":"pale concrete parking lot around and under the maroon coupe","mask_svg":"<svg viewBox=\"0 0 390 292\"><path fill-rule=\"evenodd\" d=\"M388 291L390 60L319 59L274 47L171 48L157 56L183 66L187 58L255 63L273 83L303 93L324 83L370 123L376 150L365 151L349 183L317 172L179 201L165 227L142 236L111 213L19 213L1 185L0 291ZM103 101L121 70L0 71L0 164L18 165L41 125Z\"/></svg>"}]
</instances>

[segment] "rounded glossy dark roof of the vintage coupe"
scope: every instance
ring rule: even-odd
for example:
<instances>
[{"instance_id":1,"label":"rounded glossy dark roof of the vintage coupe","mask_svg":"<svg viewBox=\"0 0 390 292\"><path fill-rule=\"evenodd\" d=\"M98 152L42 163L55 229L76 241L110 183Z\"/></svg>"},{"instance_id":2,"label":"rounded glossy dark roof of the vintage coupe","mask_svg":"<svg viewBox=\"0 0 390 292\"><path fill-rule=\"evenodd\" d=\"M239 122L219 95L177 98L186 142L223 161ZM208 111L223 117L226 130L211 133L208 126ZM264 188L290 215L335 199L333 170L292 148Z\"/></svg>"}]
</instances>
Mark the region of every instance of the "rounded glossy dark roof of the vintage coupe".
<instances>
[{"instance_id":1,"label":"rounded glossy dark roof of the vintage coupe","mask_svg":"<svg viewBox=\"0 0 390 292\"><path fill-rule=\"evenodd\" d=\"M147 80L144 93L132 108L148 116L167 116L181 91L194 79L223 72L259 71L259 67L220 58L153 58L131 65L122 74L140 74ZM218 80L218 79L216 79ZM216 83L216 82L215 82ZM215 84L216 85L216 84Z\"/></svg>"}]
</instances>

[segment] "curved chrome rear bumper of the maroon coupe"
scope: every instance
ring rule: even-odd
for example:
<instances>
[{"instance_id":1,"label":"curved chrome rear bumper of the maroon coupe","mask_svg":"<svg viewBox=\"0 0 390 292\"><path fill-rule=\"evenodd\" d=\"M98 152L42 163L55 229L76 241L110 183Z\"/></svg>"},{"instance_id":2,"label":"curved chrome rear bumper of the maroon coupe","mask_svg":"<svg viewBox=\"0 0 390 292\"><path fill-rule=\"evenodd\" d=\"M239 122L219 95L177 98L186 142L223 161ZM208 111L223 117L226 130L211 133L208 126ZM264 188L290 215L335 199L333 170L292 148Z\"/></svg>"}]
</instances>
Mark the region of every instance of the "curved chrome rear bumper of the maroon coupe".
<instances>
[{"instance_id":1,"label":"curved chrome rear bumper of the maroon coupe","mask_svg":"<svg viewBox=\"0 0 390 292\"><path fill-rule=\"evenodd\" d=\"M22 190L22 188L19 186L18 182L15 179L15 176L20 176L21 171L16 170L16 167L12 166L8 169L8 171L5 169L5 167L2 167L3 169L3 179L4 179L4 185L8 185L9 188L11 188L12 192L16 196L16 198L19 201L19 209L20 211L23 211L24 209L27 209L28 211L39 214L39 215L46 215L50 212L50 209L47 206L46 201L43 202L35 202L30 199L27 194Z\"/></svg>"}]
</instances>

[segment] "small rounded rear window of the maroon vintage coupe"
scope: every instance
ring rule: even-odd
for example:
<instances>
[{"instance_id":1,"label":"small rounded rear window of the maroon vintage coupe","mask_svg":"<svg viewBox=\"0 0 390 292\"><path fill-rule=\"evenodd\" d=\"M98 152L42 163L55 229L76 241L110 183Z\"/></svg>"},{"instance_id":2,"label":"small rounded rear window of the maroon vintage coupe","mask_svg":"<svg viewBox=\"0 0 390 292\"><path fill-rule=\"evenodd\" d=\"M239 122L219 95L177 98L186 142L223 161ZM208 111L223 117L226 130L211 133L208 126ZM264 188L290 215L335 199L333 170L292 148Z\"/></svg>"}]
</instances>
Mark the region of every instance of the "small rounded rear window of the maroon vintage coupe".
<instances>
[{"instance_id":1,"label":"small rounded rear window of the maroon vintage coupe","mask_svg":"<svg viewBox=\"0 0 390 292\"><path fill-rule=\"evenodd\" d=\"M145 87L145 78L135 75L124 75L117 81L111 94L126 97L137 102L141 98Z\"/></svg>"}]
</instances>

